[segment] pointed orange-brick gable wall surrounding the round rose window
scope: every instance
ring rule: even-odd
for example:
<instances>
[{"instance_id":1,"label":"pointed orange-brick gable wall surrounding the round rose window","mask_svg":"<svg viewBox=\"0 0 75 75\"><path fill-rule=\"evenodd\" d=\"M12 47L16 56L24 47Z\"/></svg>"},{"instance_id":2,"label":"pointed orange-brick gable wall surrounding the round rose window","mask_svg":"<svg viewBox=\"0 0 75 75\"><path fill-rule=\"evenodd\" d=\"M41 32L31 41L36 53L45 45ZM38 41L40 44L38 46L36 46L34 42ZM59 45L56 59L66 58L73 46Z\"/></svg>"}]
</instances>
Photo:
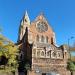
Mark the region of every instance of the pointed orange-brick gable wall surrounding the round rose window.
<instances>
[{"instance_id":1,"label":"pointed orange-brick gable wall surrounding the round rose window","mask_svg":"<svg viewBox=\"0 0 75 75\"><path fill-rule=\"evenodd\" d=\"M51 38L53 38L53 42L55 42L54 32L43 15L39 15L38 17L36 17L36 19L31 23L29 31L32 33L34 41L38 35L39 38L44 37L45 42L46 37L48 38L48 43L51 44ZM41 39L41 42L42 41L43 38Z\"/></svg>"}]
</instances>

